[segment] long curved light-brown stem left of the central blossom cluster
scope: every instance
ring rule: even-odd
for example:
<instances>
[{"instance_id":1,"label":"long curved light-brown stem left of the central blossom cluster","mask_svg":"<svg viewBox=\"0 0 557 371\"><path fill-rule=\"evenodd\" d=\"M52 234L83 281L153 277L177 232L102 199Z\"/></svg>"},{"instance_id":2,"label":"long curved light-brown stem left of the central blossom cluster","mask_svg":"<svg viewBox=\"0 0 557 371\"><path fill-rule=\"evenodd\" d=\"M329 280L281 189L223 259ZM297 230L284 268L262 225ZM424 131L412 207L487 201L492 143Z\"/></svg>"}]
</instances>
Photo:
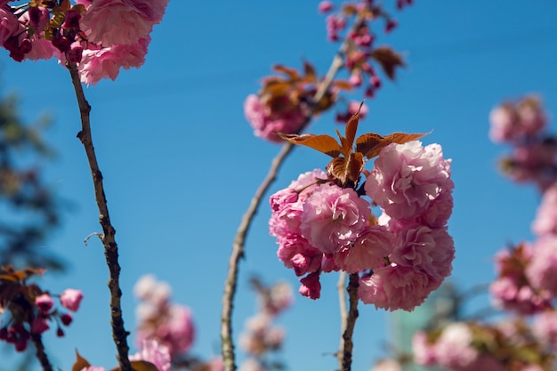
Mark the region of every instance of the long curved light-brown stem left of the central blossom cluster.
<instances>
[{"instance_id":1,"label":"long curved light-brown stem left of the central blossom cluster","mask_svg":"<svg viewBox=\"0 0 557 371\"><path fill-rule=\"evenodd\" d=\"M361 25L362 20L357 20L354 23L353 28L356 29ZM302 133L307 125L311 122L311 117L313 117L313 112L315 108L319 107L319 101L323 99L327 90L330 88L336 74L344 66L343 56L348 50L351 43L350 38L346 38L341 44L338 52L336 52L331 65L327 71L327 75L319 83L316 93L313 95L311 101L310 109L306 113L306 118L301 125L297 133ZM222 316L221 316L221 346L222 346L222 362L224 364L225 371L236 370L236 361L234 355L234 343L232 341L232 309L234 306L234 297L236 295L236 289L238 286L238 270L239 261L244 257L245 244L247 231L251 227L254 220L254 216L257 213L263 195L269 190L270 185L278 176L278 170L283 164L287 156L294 149L294 145L290 142L285 142L278 152L277 157L275 157L270 165L269 173L265 179L263 179L259 188L255 191L254 198L252 198L249 207L247 208L246 214L242 218L238 230L236 232L236 237L232 244L232 253L230 254L229 260L229 271L226 276L226 281L224 283L224 294L222 296Z\"/></svg>"}]
</instances>

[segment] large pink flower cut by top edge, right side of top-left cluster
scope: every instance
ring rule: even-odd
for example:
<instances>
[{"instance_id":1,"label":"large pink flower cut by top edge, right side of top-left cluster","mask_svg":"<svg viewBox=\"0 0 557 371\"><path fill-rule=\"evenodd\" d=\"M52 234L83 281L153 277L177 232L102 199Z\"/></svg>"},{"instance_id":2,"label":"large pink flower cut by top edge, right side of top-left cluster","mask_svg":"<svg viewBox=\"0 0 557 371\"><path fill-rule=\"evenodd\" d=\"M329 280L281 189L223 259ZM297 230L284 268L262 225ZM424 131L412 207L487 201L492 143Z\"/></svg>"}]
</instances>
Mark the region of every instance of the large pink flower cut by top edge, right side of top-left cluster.
<instances>
[{"instance_id":1,"label":"large pink flower cut by top edge, right side of top-left cluster","mask_svg":"<svg viewBox=\"0 0 557 371\"><path fill-rule=\"evenodd\" d=\"M134 45L162 20L168 0L95 0L81 19L88 40L104 47Z\"/></svg>"}]
</instances>

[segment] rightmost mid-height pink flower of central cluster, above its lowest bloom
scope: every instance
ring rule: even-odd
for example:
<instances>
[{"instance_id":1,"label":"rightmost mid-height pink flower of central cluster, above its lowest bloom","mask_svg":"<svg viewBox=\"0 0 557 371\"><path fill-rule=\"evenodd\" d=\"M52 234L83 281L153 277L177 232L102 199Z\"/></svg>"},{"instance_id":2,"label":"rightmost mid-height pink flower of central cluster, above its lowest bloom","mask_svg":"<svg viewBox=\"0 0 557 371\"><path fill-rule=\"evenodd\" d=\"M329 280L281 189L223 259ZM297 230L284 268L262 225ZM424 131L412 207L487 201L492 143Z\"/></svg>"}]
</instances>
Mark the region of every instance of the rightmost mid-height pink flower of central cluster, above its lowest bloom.
<instances>
[{"instance_id":1,"label":"rightmost mid-height pink flower of central cluster, above its lowest bloom","mask_svg":"<svg viewBox=\"0 0 557 371\"><path fill-rule=\"evenodd\" d=\"M415 226L396 233L390 261L442 281L450 274L454 258L455 246L447 228Z\"/></svg>"}]
</instances>

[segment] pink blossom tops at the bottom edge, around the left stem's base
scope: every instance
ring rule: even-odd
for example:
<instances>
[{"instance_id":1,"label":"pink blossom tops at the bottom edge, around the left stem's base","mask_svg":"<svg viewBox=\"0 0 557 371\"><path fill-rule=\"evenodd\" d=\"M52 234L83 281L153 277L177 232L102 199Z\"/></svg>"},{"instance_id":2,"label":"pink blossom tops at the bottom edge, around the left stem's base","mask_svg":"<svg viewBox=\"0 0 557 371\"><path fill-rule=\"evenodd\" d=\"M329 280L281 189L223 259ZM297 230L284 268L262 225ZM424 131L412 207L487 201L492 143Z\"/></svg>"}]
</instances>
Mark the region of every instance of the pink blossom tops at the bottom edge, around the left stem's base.
<instances>
[{"instance_id":1,"label":"pink blossom tops at the bottom edge, around the left stem's base","mask_svg":"<svg viewBox=\"0 0 557 371\"><path fill-rule=\"evenodd\" d=\"M129 359L133 369L151 370L156 367L158 371L171 371L172 364L168 347L158 343L157 340L145 340L141 343L141 351L130 355ZM149 362L146 364L145 362ZM101 366L92 366L89 361L78 355L77 361L72 367L74 370L80 371L106 371Z\"/></svg>"}]
</instances>

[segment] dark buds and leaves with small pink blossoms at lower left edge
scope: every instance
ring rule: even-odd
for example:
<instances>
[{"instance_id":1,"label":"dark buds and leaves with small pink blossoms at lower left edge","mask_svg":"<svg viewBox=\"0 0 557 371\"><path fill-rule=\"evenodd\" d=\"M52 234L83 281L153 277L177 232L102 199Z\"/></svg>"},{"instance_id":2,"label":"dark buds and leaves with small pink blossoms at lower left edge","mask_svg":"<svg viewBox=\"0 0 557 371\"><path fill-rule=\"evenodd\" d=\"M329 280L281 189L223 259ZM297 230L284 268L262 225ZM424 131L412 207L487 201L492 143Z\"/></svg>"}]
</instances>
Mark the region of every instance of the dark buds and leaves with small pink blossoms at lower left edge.
<instances>
[{"instance_id":1,"label":"dark buds and leaves with small pink blossoms at lower left edge","mask_svg":"<svg viewBox=\"0 0 557 371\"><path fill-rule=\"evenodd\" d=\"M42 275L44 270L13 270L9 266L0 269L0 311L9 314L5 323L0 323L0 340L12 343L16 351L25 351L33 335L41 335L56 323L58 336L64 335L62 326L69 326L72 315L54 308L52 296L58 296L61 306L77 311L83 299L80 290L68 288L60 295L43 291L28 278Z\"/></svg>"}]
</instances>

